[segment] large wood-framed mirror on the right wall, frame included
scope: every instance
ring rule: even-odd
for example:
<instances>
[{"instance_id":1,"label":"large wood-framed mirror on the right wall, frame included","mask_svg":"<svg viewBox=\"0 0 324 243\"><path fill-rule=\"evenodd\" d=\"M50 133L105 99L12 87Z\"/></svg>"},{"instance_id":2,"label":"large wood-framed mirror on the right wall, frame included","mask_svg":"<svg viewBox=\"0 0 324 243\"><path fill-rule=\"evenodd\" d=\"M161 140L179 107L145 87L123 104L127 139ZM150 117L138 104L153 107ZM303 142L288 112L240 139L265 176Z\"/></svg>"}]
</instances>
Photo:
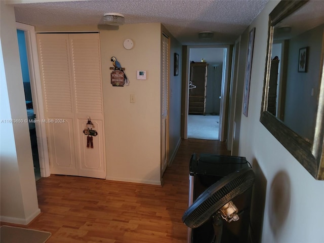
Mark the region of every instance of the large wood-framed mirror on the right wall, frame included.
<instances>
[{"instance_id":1,"label":"large wood-framed mirror on the right wall, frame included","mask_svg":"<svg viewBox=\"0 0 324 243\"><path fill-rule=\"evenodd\" d=\"M269 15L261 123L324 180L324 1L281 1Z\"/></svg>"}]
</instances>

